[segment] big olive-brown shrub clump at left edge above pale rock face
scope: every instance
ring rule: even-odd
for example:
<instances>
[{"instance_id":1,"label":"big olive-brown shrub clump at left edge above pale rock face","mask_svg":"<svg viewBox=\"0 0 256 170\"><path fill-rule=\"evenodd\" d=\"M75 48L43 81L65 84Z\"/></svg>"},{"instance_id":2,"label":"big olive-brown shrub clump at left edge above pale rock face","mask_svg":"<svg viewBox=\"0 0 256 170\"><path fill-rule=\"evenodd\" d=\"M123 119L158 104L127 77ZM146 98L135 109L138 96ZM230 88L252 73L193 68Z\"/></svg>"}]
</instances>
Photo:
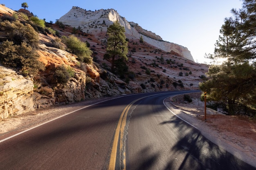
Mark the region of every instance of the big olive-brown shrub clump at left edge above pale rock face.
<instances>
[{"instance_id":1,"label":"big olive-brown shrub clump at left edge above pale rock face","mask_svg":"<svg viewBox=\"0 0 256 170\"><path fill-rule=\"evenodd\" d=\"M0 61L4 65L16 68L25 75L36 75L39 70L45 69L45 65L38 61L36 52L38 33L30 24L5 20L0 22L0 31L7 37L7 41L0 45Z\"/></svg>"}]
</instances>

